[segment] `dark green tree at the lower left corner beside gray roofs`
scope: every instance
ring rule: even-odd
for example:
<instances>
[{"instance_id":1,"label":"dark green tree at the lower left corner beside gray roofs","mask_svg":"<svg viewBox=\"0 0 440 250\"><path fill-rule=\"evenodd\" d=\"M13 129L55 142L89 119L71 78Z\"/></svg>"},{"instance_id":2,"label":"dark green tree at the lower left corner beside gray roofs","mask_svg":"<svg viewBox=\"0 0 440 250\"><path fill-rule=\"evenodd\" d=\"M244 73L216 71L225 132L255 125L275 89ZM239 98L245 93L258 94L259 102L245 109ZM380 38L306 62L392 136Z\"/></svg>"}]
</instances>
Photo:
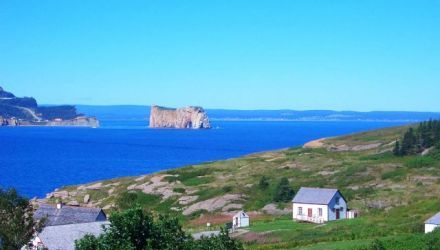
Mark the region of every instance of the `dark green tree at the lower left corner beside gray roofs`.
<instances>
[{"instance_id":1,"label":"dark green tree at the lower left corner beside gray roofs","mask_svg":"<svg viewBox=\"0 0 440 250\"><path fill-rule=\"evenodd\" d=\"M34 226L33 209L29 201L21 197L15 189L0 188L0 249L20 249L32 238Z\"/></svg>"}]
</instances>

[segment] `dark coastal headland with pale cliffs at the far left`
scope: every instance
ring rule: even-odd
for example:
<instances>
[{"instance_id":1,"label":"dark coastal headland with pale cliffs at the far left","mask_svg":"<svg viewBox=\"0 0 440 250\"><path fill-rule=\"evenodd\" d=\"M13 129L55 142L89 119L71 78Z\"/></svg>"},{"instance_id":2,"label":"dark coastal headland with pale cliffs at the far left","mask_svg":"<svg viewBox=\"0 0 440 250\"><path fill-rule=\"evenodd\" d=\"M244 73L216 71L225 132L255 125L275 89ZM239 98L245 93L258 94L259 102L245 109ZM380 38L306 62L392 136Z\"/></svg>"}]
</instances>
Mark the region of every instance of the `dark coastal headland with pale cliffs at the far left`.
<instances>
[{"instance_id":1,"label":"dark coastal headland with pale cliffs at the far left","mask_svg":"<svg viewBox=\"0 0 440 250\"><path fill-rule=\"evenodd\" d=\"M75 106L39 106L32 97L16 97L0 87L0 126L98 127L95 117L86 117Z\"/></svg>"}]
</instances>

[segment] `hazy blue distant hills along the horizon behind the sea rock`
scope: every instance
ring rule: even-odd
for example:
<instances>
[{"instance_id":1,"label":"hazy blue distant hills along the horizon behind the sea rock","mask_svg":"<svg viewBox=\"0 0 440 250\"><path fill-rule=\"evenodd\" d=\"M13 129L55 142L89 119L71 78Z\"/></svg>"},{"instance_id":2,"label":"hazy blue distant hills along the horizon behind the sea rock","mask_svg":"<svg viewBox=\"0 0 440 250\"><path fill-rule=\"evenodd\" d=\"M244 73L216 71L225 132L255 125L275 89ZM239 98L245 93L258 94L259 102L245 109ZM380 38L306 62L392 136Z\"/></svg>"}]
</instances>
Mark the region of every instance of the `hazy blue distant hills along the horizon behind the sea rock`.
<instances>
[{"instance_id":1,"label":"hazy blue distant hills along the horizon behind the sea rock","mask_svg":"<svg viewBox=\"0 0 440 250\"><path fill-rule=\"evenodd\" d=\"M77 109L101 120L148 120L150 106L87 106ZM255 121L400 121L415 122L440 118L440 112L406 111L332 111L332 110L228 110L207 109L210 120L255 120Z\"/></svg>"}]
</instances>

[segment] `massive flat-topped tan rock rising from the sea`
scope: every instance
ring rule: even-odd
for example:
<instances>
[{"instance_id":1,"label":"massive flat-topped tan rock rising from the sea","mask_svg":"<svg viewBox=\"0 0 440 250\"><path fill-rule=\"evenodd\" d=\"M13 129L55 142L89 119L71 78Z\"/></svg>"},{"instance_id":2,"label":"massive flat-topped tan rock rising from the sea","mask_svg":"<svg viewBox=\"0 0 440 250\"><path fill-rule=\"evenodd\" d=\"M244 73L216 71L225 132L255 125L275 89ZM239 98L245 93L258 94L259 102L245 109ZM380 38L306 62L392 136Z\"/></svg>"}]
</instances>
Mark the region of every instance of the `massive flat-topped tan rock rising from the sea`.
<instances>
[{"instance_id":1,"label":"massive flat-topped tan rock rising from the sea","mask_svg":"<svg viewBox=\"0 0 440 250\"><path fill-rule=\"evenodd\" d=\"M208 129L211 125L202 107L172 109L151 106L150 128Z\"/></svg>"}]
</instances>

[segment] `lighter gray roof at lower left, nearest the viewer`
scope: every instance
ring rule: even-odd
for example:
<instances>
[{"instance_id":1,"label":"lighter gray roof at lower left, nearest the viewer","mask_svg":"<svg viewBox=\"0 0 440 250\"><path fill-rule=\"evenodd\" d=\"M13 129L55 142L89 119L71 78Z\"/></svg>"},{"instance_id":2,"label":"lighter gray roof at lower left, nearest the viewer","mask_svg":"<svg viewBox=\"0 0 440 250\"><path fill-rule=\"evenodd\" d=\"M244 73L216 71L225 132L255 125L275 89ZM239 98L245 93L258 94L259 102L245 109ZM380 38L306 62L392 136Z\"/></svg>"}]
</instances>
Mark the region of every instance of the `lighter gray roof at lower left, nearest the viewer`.
<instances>
[{"instance_id":1,"label":"lighter gray roof at lower left, nearest the viewer","mask_svg":"<svg viewBox=\"0 0 440 250\"><path fill-rule=\"evenodd\" d=\"M98 236L104 232L103 226L109 224L108 221L98 221L50 226L45 227L38 234L38 238L49 250L73 250L75 249L75 240L83 238L86 234Z\"/></svg>"}]
</instances>

